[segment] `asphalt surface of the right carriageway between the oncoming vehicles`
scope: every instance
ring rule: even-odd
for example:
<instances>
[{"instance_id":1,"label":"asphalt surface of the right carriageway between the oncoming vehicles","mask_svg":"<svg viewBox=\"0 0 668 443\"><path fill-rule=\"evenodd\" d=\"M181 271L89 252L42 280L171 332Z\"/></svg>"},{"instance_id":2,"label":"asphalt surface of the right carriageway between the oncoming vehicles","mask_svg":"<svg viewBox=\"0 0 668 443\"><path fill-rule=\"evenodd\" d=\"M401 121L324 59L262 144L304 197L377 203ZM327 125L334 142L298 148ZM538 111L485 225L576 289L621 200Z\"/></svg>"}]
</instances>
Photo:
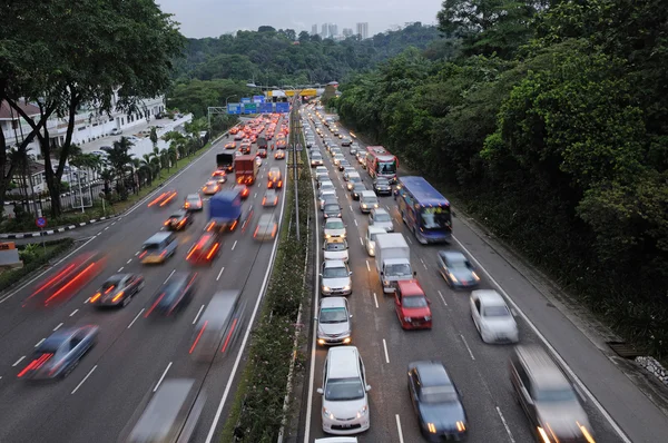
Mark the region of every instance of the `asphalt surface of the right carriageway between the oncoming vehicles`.
<instances>
[{"instance_id":1,"label":"asphalt surface of the right carriageway between the oncoming vehicles","mask_svg":"<svg viewBox=\"0 0 668 443\"><path fill-rule=\"evenodd\" d=\"M324 131L334 138L326 128ZM508 358L512 345L483 343L471 319L469 293L450 289L436 270L438 250L449 248L471 257L480 269L480 288L494 288L507 297L520 328L520 343L543 346L549 343L558 352L589 414L597 442L666 441L668 420L661 411L466 224L453 218L454 239L450 245L423 246L407 232L393 198L379 197L381 207L393 216L395 232L407 239L413 268L418 270L416 278L431 299L433 329L403 331L394 312L394 299L383 295L374 257L367 256L362 243L367 216L361 214L358 203L352 200L344 188L342 173L333 167L322 138L316 135L316 140L337 187L343 220L347 226L353 272L353 294L348 296L353 313L352 344L360 350L366 367L366 381L372 386L369 393L371 429L358 435L360 442L425 441L420 434L406 390L407 364L420 360L442 361L450 372L462 393L469 415L470 442L519 443L533 439L529 421L511 391ZM364 148L363 144L360 145ZM366 187L372 189L369 174L348 154L347 147L342 147L342 150L351 165L358 169ZM320 244L323 218L322 213L316 211L321 224L316 229L320 235L316 244ZM322 256L318 263L322 263ZM317 287L314 299L320 299ZM317 303L314 303L314 308L317 308ZM313 316L317 316L317 311ZM327 348L316 346L313 336L310 339L313 352L307 380L311 378L311 384L303 401L306 407L301 415L303 431L298 440L304 443L327 436L322 431L322 396L316 393L316 388L322 386Z\"/></svg>"}]
</instances>

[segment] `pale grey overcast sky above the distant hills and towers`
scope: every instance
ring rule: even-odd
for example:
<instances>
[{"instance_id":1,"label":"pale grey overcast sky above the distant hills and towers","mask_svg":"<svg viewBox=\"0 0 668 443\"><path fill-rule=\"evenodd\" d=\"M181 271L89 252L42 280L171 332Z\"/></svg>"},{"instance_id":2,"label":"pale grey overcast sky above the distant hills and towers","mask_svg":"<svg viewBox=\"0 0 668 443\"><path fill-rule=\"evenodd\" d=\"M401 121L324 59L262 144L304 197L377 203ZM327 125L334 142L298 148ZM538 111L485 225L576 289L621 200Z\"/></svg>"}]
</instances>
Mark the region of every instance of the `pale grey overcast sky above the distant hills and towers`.
<instances>
[{"instance_id":1,"label":"pale grey overcast sky above the distant hills and towers","mask_svg":"<svg viewBox=\"0 0 668 443\"><path fill-rule=\"evenodd\" d=\"M441 0L156 0L164 12L175 14L186 37L218 37L238 29L257 30L263 24L276 29L311 32L317 23L353 28L369 22L370 37L393 24L409 21L425 24L436 20Z\"/></svg>"}]
</instances>

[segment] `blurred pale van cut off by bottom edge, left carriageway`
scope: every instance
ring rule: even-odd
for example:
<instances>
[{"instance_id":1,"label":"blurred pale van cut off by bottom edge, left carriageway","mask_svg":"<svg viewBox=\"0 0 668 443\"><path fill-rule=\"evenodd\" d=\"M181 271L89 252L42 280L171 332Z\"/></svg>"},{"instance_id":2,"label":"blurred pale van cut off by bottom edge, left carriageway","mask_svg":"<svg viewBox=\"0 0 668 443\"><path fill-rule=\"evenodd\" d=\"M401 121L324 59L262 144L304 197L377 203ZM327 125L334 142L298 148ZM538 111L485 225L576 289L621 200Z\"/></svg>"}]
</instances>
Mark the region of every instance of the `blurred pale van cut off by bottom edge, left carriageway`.
<instances>
[{"instance_id":1,"label":"blurred pale van cut off by bottom edge, left carriageway","mask_svg":"<svg viewBox=\"0 0 668 443\"><path fill-rule=\"evenodd\" d=\"M160 383L132 427L127 443L187 442L197 429L206 393L194 378Z\"/></svg>"}]
</instances>

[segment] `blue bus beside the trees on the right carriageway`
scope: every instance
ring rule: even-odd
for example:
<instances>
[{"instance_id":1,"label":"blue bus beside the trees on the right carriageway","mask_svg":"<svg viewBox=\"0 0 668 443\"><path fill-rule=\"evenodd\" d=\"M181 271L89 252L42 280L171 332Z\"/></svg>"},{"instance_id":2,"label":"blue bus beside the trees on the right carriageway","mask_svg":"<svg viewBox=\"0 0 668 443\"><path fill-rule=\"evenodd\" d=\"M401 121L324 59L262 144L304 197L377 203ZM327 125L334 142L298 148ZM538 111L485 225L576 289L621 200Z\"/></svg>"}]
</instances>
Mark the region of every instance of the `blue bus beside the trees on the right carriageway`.
<instances>
[{"instance_id":1,"label":"blue bus beside the trees on the right carriageway","mask_svg":"<svg viewBox=\"0 0 668 443\"><path fill-rule=\"evenodd\" d=\"M445 243L452 237L450 201L422 177L399 177L394 198L418 242Z\"/></svg>"}]
</instances>

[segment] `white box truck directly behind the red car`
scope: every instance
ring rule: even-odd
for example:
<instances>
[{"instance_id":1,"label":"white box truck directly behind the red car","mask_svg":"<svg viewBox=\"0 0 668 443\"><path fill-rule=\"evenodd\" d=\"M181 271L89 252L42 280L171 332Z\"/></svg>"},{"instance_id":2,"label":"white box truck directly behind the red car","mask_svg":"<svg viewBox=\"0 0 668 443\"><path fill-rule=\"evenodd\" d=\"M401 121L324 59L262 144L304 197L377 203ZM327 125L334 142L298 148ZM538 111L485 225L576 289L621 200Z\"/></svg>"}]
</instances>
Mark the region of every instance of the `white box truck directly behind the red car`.
<instances>
[{"instance_id":1,"label":"white box truck directly behind the red car","mask_svg":"<svg viewBox=\"0 0 668 443\"><path fill-rule=\"evenodd\" d=\"M415 277L411 266L411 249L400 233L380 234L375 239L375 262L383 293L396 291L396 282Z\"/></svg>"}]
</instances>

